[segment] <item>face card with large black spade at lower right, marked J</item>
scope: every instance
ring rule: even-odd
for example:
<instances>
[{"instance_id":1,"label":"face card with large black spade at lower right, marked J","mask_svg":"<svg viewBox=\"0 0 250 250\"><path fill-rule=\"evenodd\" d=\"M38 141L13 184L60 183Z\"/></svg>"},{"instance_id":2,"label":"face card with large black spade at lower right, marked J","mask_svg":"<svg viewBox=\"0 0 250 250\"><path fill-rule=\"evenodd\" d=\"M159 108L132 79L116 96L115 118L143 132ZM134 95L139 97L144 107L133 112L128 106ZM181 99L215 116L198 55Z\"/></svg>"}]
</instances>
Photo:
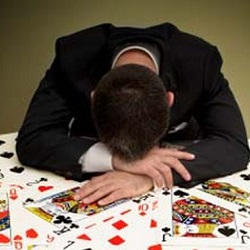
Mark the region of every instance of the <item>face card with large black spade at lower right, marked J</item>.
<instances>
[{"instance_id":1,"label":"face card with large black spade at lower right, marked J","mask_svg":"<svg viewBox=\"0 0 250 250\"><path fill-rule=\"evenodd\" d=\"M207 199L209 197L202 196L201 192L192 190L189 194L187 190L178 188L172 190L171 197L171 208L166 206L167 202L165 207L162 201L159 203L162 220L158 236L163 245L202 246L208 239L210 246L248 244L241 239L239 215L229 210L224 201L218 205ZM166 226L170 224L169 217L172 223ZM248 234L249 230L246 230Z\"/></svg>"}]
</instances>

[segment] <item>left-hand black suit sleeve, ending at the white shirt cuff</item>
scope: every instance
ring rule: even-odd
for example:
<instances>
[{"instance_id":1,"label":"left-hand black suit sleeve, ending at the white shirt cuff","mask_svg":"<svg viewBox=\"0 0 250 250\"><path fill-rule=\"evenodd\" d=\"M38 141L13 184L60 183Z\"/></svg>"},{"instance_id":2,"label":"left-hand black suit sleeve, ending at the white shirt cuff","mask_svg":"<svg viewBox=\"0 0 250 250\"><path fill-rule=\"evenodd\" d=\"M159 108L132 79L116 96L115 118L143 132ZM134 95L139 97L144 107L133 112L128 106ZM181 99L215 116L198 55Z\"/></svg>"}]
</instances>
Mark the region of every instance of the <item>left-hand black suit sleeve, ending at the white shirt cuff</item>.
<instances>
[{"instance_id":1,"label":"left-hand black suit sleeve, ending at the white shirt cuff","mask_svg":"<svg viewBox=\"0 0 250 250\"><path fill-rule=\"evenodd\" d=\"M16 150L24 165L80 181L82 172L78 160L95 142L68 135L73 114L67 100L61 50L59 39L55 60L31 100L18 134Z\"/></svg>"}]
</instances>

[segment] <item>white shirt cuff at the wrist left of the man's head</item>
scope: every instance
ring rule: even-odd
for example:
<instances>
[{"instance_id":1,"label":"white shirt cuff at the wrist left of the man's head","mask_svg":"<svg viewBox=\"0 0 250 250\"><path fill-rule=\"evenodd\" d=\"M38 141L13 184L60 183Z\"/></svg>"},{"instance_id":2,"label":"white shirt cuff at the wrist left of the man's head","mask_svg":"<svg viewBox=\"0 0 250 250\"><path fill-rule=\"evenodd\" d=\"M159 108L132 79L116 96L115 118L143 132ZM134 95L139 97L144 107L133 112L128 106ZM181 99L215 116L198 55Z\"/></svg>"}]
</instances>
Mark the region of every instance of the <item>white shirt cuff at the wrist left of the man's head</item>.
<instances>
[{"instance_id":1,"label":"white shirt cuff at the wrist left of the man's head","mask_svg":"<svg viewBox=\"0 0 250 250\"><path fill-rule=\"evenodd\" d=\"M113 170L112 155L104 143L97 142L84 153L79 161L82 172L107 172Z\"/></svg>"}]
</instances>

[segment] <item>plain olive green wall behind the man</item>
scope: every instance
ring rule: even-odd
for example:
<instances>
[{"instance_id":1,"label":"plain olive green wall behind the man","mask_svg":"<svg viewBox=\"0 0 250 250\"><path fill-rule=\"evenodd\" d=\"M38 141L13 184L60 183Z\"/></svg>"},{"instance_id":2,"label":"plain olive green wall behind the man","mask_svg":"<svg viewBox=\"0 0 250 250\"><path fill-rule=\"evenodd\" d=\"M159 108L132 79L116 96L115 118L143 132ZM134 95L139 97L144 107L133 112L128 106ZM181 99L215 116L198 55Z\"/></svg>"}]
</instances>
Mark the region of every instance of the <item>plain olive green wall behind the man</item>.
<instances>
[{"instance_id":1,"label":"plain olive green wall behind the man","mask_svg":"<svg viewBox=\"0 0 250 250\"><path fill-rule=\"evenodd\" d=\"M21 125L57 37L102 22L166 21L218 46L250 135L248 0L0 0L0 133Z\"/></svg>"}]
</instances>

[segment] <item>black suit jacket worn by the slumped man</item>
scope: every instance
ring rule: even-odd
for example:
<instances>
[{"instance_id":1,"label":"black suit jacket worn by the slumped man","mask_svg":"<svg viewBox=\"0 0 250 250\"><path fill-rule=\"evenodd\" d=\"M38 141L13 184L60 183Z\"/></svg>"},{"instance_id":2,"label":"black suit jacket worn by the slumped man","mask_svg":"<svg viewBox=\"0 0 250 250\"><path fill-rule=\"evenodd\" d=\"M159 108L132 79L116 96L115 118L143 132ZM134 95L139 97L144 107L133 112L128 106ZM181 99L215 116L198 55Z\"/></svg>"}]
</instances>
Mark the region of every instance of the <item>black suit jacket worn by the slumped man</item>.
<instances>
[{"instance_id":1,"label":"black suit jacket worn by the slumped man","mask_svg":"<svg viewBox=\"0 0 250 250\"><path fill-rule=\"evenodd\" d=\"M182 122L190 124L179 133L167 133L163 140L199 136L186 149L196 159L183 161L192 181L184 183L174 173L175 183L191 186L246 167L249 149L244 123L221 73L217 48L169 23L148 28L102 24L59 38L55 59L19 131L17 154L23 164L76 180L88 177L82 174L78 159L98 141L90 93L110 70L116 48L137 42L154 43L160 50L160 77L175 93L169 130Z\"/></svg>"}]
</instances>

